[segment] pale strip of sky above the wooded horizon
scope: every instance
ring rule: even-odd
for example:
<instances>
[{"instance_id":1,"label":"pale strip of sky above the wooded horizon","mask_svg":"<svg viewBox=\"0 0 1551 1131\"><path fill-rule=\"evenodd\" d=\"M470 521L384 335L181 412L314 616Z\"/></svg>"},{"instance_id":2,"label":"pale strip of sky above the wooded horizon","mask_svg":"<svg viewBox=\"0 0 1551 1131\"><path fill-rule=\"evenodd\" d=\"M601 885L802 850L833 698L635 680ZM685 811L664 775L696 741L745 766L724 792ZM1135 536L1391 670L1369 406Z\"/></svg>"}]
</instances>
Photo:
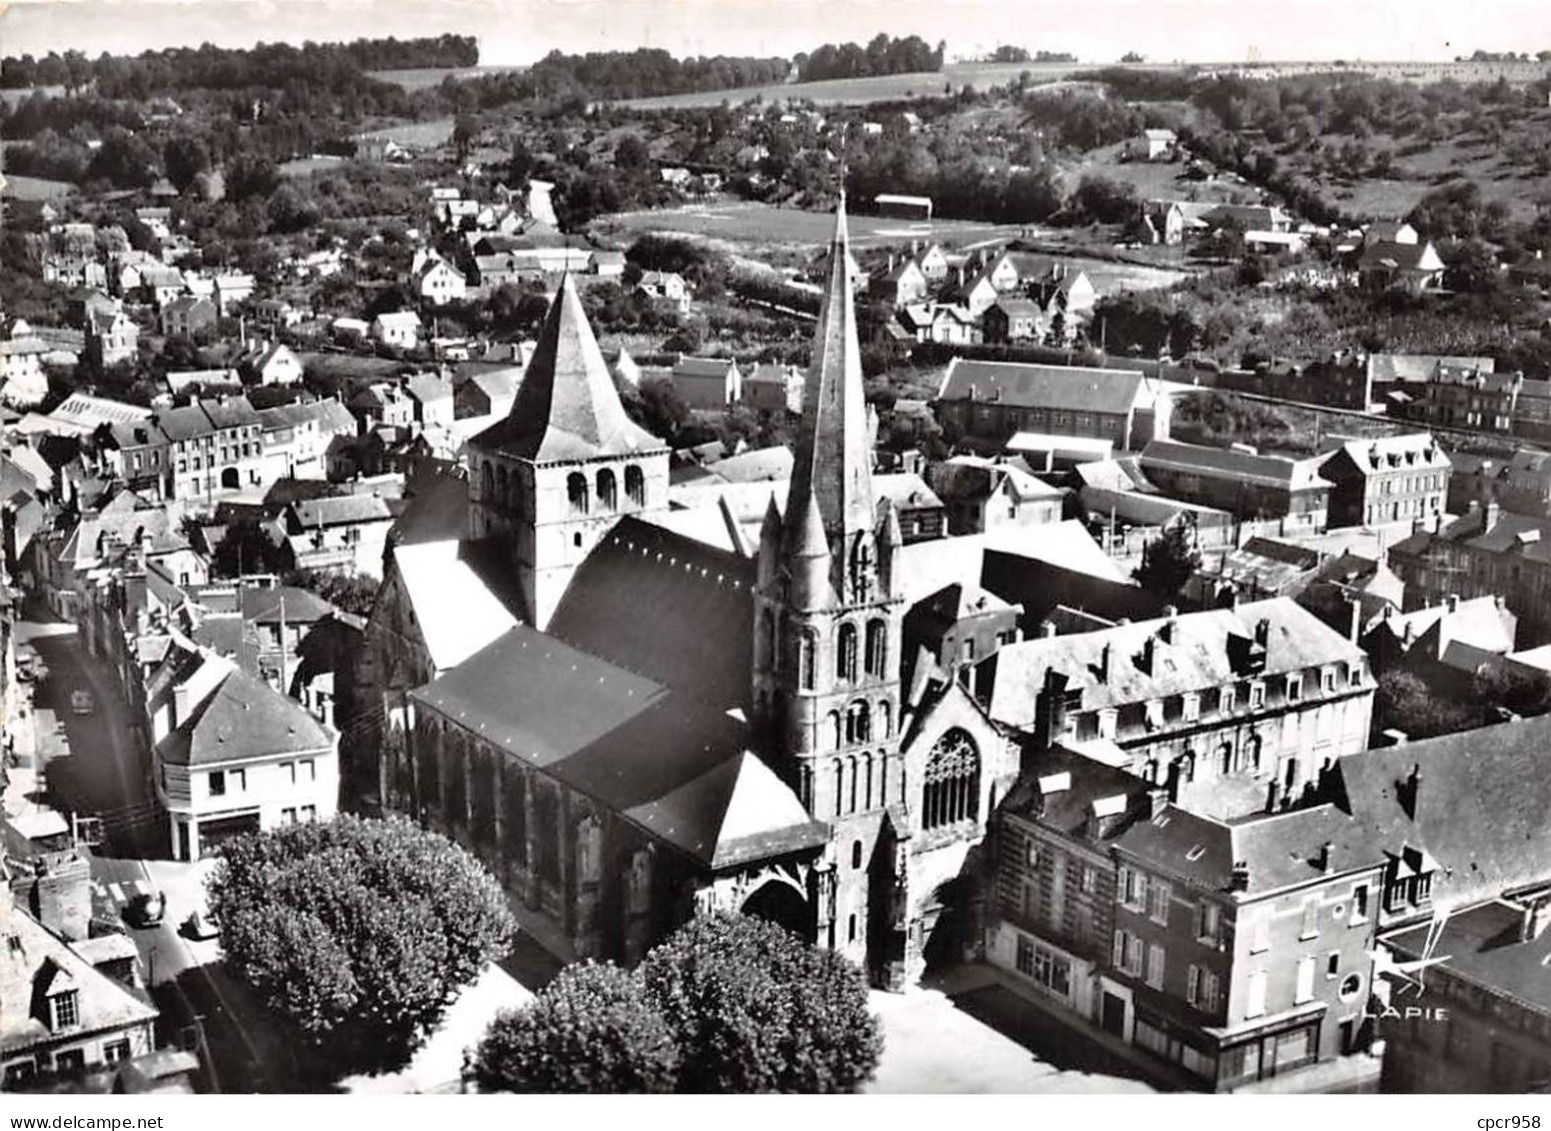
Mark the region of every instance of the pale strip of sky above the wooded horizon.
<instances>
[{"instance_id":1,"label":"pale strip of sky above the wooded horizon","mask_svg":"<svg viewBox=\"0 0 1551 1131\"><path fill-rule=\"evenodd\" d=\"M473 34L484 64L552 48L791 56L879 31L949 59L1017 43L1111 62L1453 59L1551 48L1551 0L0 0L0 54Z\"/></svg>"}]
</instances>

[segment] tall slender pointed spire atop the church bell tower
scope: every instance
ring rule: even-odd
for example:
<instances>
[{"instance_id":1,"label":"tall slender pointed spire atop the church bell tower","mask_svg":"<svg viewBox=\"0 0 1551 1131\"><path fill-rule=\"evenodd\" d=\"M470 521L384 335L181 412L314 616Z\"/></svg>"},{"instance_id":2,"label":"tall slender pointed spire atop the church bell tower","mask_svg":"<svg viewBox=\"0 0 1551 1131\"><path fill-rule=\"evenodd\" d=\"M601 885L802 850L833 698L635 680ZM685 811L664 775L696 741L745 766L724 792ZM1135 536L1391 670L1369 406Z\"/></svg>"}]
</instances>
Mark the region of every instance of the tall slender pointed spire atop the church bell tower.
<instances>
[{"instance_id":1,"label":"tall slender pointed spire atop the church bell tower","mask_svg":"<svg viewBox=\"0 0 1551 1131\"><path fill-rule=\"evenodd\" d=\"M824 306L813 335L802 433L786 496L786 538L807 532L810 500L831 546L836 538L872 532L875 526L872 450L862 397L862 357L856 334L845 194L834 213Z\"/></svg>"}]
</instances>

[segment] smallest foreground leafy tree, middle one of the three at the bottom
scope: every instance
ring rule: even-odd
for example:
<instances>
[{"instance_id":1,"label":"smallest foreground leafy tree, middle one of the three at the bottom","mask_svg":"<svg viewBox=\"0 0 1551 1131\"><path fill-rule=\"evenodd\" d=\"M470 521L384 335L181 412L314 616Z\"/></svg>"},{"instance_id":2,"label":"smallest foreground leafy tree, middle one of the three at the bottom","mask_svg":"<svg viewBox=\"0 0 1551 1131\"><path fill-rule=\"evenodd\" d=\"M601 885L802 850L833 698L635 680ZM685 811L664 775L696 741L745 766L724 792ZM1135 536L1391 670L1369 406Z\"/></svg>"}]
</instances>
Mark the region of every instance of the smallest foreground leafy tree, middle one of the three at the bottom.
<instances>
[{"instance_id":1,"label":"smallest foreground leafy tree, middle one of the three at the bottom","mask_svg":"<svg viewBox=\"0 0 1551 1131\"><path fill-rule=\"evenodd\" d=\"M672 1092L678 1067L673 1030L641 979L585 962L498 1015L465 1072L482 1092Z\"/></svg>"}]
</instances>

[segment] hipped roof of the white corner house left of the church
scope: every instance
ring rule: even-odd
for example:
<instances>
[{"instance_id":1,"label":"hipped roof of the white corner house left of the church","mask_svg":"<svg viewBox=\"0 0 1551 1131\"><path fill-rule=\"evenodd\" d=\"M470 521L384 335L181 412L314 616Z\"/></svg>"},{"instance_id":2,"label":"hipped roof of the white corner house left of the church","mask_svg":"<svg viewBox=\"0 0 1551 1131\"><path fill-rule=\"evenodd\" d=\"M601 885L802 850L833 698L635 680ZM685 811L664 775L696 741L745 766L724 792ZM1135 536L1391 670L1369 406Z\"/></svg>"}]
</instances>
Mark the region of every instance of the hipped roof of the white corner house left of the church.
<instances>
[{"instance_id":1,"label":"hipped roof of the white corner house left of the church","mask_svg":"<svg viewBox=\"0 0 1551 1131\"><path fill-rule=\"evenodd\" d=\"M157 751L168 765L203 766L332 748L333 737L299 703L233 669Z\"/></svg>"}]
</instances>

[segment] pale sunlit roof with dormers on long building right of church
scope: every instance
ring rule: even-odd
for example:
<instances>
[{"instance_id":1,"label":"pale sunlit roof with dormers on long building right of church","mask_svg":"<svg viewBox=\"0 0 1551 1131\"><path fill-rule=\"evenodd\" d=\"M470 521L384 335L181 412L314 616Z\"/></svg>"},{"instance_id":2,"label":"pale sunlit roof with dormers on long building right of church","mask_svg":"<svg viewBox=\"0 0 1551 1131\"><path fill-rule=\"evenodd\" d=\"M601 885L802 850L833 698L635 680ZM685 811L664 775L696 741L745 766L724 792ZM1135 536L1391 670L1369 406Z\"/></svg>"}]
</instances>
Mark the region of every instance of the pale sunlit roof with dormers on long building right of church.
<instances>
[{"instance_id":1,"label":"pale sunlit roof with dormers on long building right of church","mask_svg":"<svg viewBox=\"0 0 1551 1131\"><path fill-rule=\"evenodd\" d=\"M1050 670L1067 678L1069 690L1083 692L1083 711L1221 687L1244 678L1233 667L1231 656L1253 642L1259 621L1269 622L1269 633L1264 675L1256 678L1269 680L1340 661L1363 662L1362 649L1312 613L1287 597L1272 597L1236 610L1182 613L1173 622L1169 617L1157 617L1100 631L1003 645L985 661L994 666L991 670L996 676L991 718L1007 726L1033 725L1035 698ZM1165 642L1163 631L1169 624L1173 641ZM1140 659L1149 639L1154 647L1151 672Z\"/></svg>"}]
</instances>

